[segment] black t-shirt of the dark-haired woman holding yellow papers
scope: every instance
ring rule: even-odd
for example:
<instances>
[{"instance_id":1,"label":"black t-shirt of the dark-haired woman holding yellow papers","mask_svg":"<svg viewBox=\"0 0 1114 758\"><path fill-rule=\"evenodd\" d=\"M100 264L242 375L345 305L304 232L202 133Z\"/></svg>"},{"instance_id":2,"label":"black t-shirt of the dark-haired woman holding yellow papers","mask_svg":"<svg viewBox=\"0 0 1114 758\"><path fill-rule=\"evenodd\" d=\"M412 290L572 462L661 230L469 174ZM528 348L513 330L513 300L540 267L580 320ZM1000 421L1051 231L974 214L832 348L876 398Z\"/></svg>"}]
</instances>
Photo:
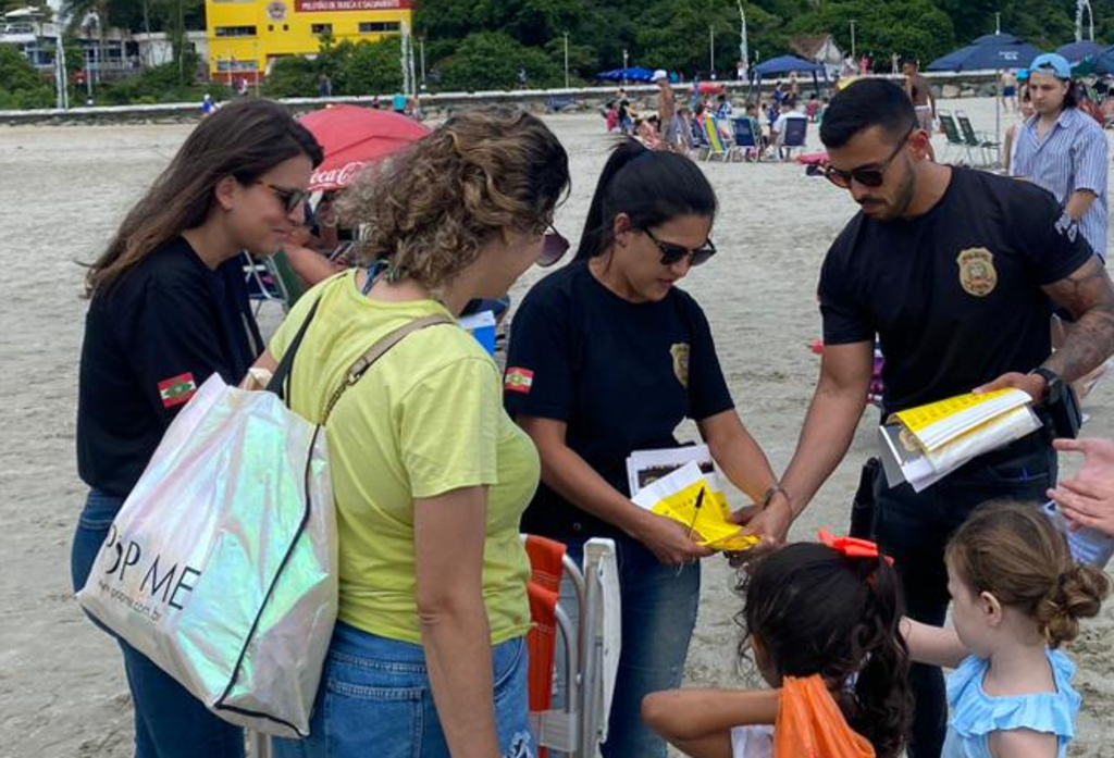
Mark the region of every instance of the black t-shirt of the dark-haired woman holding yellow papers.
<instances>
[{"instance_id":1,"label":"black t-shirt of the dark-haired woman holding yellow papers","mask_svg":"<svg viewBox=\"0 0 1114 758\"><path fill-rule=\"evenodd\" d=\"M707 319L690 295L673 288L661 302L629 303L586 262L549 275L522 301L504 397L511 415L566 422L568 446L624 494L633 451L675 447L685 417L734 407ZM555 539L617 532L545 484L522 525Z\"/></svg>"}]
</instances>

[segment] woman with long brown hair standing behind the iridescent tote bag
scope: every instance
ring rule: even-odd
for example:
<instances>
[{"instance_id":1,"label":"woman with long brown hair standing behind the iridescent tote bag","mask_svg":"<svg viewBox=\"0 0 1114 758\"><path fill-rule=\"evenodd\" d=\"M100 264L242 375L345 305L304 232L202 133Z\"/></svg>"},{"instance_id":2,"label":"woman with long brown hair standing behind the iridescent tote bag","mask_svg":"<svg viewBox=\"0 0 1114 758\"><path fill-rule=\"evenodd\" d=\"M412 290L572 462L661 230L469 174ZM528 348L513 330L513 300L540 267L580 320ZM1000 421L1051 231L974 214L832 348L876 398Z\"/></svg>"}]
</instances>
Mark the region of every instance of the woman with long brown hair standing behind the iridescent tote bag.
<instances>
[{"instance_id":1,"label":"woman with long brown hair standing behind the iridescent tote bag","mask_svg":"<svg viewBox=\"0 0 1114 758\"><path fill-rule=\"evenodd\" d=\"M229 287L241 250L270 254L302 220L313 136L276 102L241 100L206 118L89 268L78 393L78 472L89 496L71 554L89 577L113 519L163 433L212 374L237 383L260 352ZM221 721L123 640L137 758L238 758Z\"/></svg>"}]
</instances>

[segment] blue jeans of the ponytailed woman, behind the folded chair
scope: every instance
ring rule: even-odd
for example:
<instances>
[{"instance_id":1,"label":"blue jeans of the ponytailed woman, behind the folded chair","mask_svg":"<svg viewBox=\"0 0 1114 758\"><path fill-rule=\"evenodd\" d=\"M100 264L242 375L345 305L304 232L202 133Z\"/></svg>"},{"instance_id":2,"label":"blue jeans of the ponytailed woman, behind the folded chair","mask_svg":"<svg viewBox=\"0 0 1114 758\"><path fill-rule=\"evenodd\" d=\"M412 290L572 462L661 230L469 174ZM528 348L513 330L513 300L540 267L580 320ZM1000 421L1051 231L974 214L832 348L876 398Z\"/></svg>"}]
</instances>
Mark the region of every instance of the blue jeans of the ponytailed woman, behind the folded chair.
<instances>
[{"instance_id":1,"label":"blue jeans of the ponytailed woman, behind the folded chair","mask_svg":"<svg viewBox=\"0 0 1114 758\"><path fill-rule=\"evenodd\" d=\"M684 567L678 574L676 568L658 563L637 540L613 539L623 603L623 650L603 754L605 758L665 758L665 740L643 723L642 699L681 687L696 626L700 563ZM568 544L568 557L577 565L583 555L583 542ZM577 620L579 609L568 580L561 582L560 606ZM557 650L557 670L563 671L560 646ZM558 693L558 700L563 698Z\"/></svg>"}]
</instances>

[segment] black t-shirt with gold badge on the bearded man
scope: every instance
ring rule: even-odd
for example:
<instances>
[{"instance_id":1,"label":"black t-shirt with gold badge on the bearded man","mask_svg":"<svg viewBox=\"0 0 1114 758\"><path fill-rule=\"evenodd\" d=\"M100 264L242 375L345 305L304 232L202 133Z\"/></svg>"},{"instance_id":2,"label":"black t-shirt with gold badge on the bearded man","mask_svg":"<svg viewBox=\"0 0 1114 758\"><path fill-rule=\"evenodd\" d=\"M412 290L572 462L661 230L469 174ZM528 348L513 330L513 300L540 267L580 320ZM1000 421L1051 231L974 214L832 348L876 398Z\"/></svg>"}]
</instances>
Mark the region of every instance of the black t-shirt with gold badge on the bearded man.
<instances>
[{"instance_id":1,"label":"black t-shirt with gold badge on the bearded man","mask_svg":"<svg viewBox=\"0 0 1114 758\"><path fill-rule=\"evenodd\" d=\"M970 392L1049 353L1040 289L1094 253L1055 198L985 171L951 169L912 220L858 214L820 273L829 345L881 341L886 413Z\"/></svg>"}]
</instances>

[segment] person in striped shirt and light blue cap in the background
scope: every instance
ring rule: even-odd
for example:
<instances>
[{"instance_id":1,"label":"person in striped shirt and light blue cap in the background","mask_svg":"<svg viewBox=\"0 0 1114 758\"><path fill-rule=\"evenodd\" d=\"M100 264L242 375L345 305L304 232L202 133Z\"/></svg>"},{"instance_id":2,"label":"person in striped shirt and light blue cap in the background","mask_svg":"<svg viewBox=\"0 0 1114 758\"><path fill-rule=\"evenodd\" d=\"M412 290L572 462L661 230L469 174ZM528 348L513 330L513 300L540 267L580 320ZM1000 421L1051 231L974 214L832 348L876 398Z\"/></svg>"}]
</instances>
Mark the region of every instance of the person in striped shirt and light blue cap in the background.
<instances>
[{"instance_id":1,"label":"person in striped shirt and light blue cap in the background","mask_svg":"<svg viewBox=\"0 0 1114 758\"><path fill-rule=\"evenodd\" d=\"M1105 260L1106 135L1076 109L1072 68L1063 56L1046 53L1034 59L1029 96L1036 115L1022 127L1010 170L1055 195Z\"/></svg>"}]
</instances>

